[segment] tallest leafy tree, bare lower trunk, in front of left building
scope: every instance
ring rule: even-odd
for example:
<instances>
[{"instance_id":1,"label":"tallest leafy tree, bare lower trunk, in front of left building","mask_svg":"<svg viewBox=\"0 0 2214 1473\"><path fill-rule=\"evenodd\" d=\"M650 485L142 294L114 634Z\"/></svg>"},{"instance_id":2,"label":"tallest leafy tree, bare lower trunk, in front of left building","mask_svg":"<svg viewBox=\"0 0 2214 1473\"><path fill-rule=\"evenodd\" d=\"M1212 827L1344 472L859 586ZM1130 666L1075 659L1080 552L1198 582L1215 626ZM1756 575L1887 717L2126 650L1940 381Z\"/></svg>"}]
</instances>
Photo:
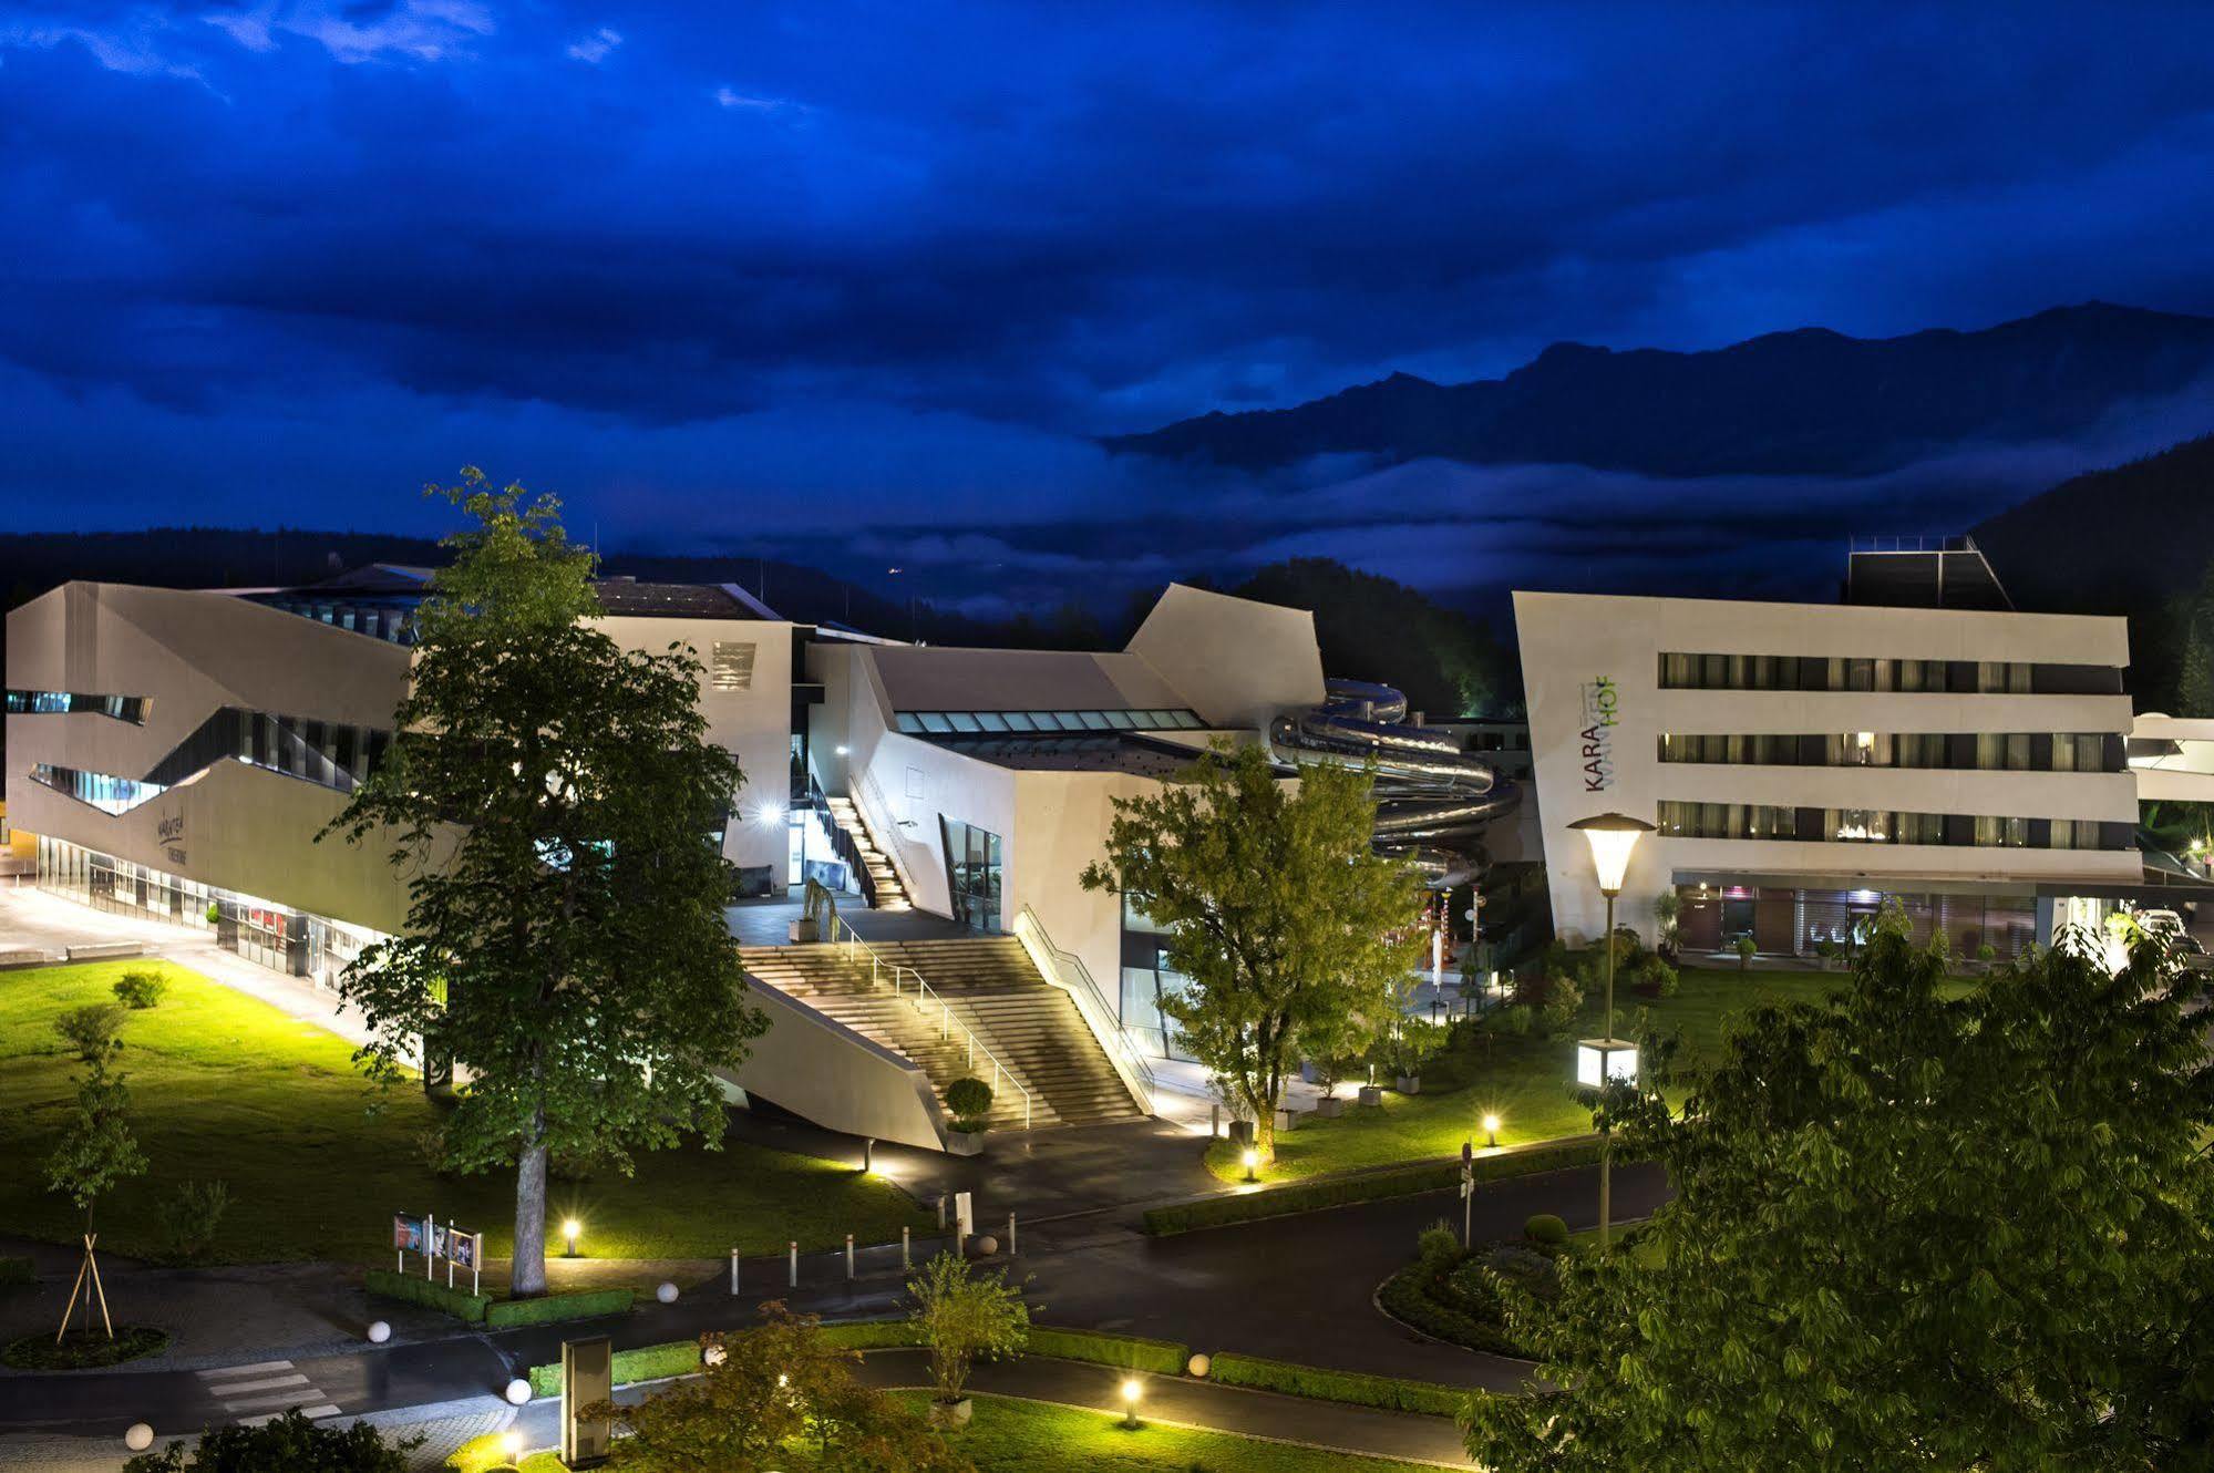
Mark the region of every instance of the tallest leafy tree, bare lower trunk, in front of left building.
<instances>
[{"instance_id":1,"label":"tallest leafy tree, bare lower trunk, in front of left building","mask_svg":"<svg viewBox=\"0 0 2214 1473\"><path fill-rule=\"evenodd\" d=\"M593 560L556 501L476 470L445 494L476 525L421 607L390 758L325 831L392 846L407 924L339 990L374 1028L374 1074L396 1079L418 1039L469 1072L445 1156L516 1167L529 1296L549 1152L629 1172L633 1150L722 1139L715 1070L766 1026L706 839L742 773L706 742L691 649L624 651L593 627Z\"/></svg>"}]
</instances>

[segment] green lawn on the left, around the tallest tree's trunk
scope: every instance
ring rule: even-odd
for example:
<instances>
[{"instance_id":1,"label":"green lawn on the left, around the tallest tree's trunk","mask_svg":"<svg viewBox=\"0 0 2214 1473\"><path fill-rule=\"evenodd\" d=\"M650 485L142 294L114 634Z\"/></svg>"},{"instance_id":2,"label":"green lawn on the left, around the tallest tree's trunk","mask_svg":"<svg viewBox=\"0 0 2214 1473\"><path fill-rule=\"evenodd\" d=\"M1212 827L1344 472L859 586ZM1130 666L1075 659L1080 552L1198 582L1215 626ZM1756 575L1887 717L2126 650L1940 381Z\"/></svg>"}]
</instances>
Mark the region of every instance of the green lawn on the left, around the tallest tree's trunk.
<instances>
[{"instance_id":1,"label":"green lawn on the left, around the tallest tree's trunk","mask_svg":"<svg viewBox=\"0 0 2214 1473\"><path fill-rule=\"evenodd\" d=\"M113 1001L111 986L146 961L0 972L0 1220L9 1232L66 1243L75 1209L44 1189L40 1163L73 1108L75 1059L55 1014ZM414 1085L368 1083L352 1048L275 1008L159 964L168 995L124 1023L122 1074L151 1172L100 1205L100 1243L122 1254L159 1247L155 1207L177 1183L224 1181L230 1212L215 1247L224 1263L339 1258L387 1263L392 1214L436 1212L511 1249L514 1178L438 1178L418 1136L434 1108ZM832 1247L899 1236L934 1218L897 1187L753 1145L673 1150L638 1158L638 1174L556 1181L549 1218L584 1223L582 1247L607 1258L717 1258ZM554 1243L554 1251L560 1245Z\"/></svg>"}]
</instances>

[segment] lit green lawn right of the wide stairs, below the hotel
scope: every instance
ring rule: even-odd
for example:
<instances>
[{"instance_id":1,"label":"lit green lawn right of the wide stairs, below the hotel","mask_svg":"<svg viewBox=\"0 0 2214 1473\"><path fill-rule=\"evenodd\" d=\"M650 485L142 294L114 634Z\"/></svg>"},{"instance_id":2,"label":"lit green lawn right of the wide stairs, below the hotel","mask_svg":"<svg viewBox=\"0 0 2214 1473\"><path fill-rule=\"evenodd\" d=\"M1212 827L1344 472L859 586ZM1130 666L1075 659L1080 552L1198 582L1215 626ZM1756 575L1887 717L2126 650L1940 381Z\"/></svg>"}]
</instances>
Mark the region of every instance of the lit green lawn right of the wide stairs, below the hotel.
<instances>
[{"instance_id":1,"label":"lit green lawn right of the wide stairs, below the hotel","mask_svg":"<svg viewBox=\"0 0 2214 1473\"><path fill-rule=\"evenodd\" d=\"M1683 1037L1680 1063L1720 1059L1722 1032L1731 1014L1756 1001L1820 1001L1846 981L1842 972L1762 972L1683 968L1676 997L1645 999L1627 986L1614 992L1614 1028L1636 1037L1638 1012L1649 1012L1658 1028ZM1605 1003L1592 990L1574 1037L1596 1037ZM1432 1059L1421 1070L1421 1094L1384 1092L1379 1110L1346 1112L1335 1121L1304 1116L1300 1127L1275 1139L1275 1163L1262 1167L1262 1181L1297 1181L1324 1172L1348 1172L1373 1165L1432 1161L1452 1156L1461 1141L1483 1145L1479 1121L1499 1116L1499 1145L1548 1141L1583 1134L1592 1112L1576 1103L1574 1039L1552 1041L1539 1034L1483 1034L1472 1048ZM1339 1085L1339 1094L1351 1092ZM1207 1165L1222 1181L1244 1181L1238 1150L1218 1141L1207 1152Z\"/></svg>"}]
</instances>

